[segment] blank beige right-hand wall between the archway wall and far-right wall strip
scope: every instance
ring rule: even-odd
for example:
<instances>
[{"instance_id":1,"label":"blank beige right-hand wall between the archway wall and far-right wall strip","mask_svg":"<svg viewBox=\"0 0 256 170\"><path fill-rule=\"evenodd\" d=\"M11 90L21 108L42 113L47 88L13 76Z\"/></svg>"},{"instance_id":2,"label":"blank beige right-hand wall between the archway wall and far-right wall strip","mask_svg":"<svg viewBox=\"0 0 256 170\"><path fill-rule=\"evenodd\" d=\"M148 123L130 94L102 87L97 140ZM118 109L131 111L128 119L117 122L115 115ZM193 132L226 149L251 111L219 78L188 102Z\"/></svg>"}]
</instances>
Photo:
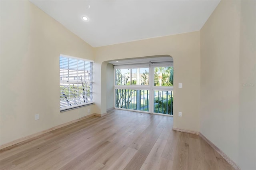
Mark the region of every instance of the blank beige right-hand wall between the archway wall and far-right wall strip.
<instances>
[{"instance_id":1,"label":"blank beige right-hand wall between the archway wall and far-right wall strip","mask_svg":"<svg viewBox=\"0 0 256 170\"><path fill-rule=\"evenodd\" d=\"M201 30L200 132L236 162L239 116L239 4L239 1L221 1Z\"/></svg>"}]
</instances>

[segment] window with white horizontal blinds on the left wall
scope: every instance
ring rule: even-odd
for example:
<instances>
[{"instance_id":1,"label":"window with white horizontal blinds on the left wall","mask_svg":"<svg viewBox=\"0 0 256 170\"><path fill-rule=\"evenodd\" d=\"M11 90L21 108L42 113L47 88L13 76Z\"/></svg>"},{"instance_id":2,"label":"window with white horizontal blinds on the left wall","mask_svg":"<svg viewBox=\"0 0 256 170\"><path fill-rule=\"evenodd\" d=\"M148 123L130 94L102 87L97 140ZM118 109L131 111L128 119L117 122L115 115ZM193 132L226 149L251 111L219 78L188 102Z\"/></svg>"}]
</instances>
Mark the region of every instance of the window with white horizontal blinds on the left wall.
<instances>
[{"instance_id":1,"label":"window with white horizontal blinds on the left wall","mask_svg":"<svg viewBox=\"0 0 256 170\"><path fill-rule=\"evenodd\" d=\"M93 61L60 55L60 111L93 103Z\"/></svg>"}]
</instances>

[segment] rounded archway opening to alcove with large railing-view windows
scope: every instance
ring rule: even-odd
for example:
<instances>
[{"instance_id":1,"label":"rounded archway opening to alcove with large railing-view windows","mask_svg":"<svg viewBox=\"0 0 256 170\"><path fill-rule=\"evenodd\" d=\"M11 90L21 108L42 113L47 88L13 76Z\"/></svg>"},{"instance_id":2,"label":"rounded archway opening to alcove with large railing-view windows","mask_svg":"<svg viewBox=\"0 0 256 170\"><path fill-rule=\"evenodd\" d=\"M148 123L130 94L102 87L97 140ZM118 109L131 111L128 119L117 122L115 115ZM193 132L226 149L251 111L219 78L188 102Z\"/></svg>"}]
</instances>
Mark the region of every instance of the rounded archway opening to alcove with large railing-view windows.
<instances>
[{"instance_id":1,"label":"rounded archway opening to alcove with large railing-view windows","mask_svg":"<svg viewBox=\"0 0 256 170\"><path fill-rule=\"evenodd\" d=\"M106 111L116 108L173 115L173 68L170 55L104 61Z\"/></svg>"}]
</instances>

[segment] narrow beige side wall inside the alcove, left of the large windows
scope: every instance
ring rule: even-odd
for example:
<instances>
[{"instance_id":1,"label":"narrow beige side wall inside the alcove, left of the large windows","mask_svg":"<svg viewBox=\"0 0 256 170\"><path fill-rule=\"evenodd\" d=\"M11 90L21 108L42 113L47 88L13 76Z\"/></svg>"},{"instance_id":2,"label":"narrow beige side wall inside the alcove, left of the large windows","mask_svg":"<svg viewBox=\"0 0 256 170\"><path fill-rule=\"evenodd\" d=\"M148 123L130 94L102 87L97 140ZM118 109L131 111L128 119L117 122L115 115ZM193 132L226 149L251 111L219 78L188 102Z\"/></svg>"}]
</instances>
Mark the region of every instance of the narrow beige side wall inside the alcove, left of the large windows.
<instances>
[{"instance_id":1,"label":"narrow beige side wall inside the alcove, left of the large windows","mask_svg":"<svg viewBox=\"0 0 256 170\"><path fill-rule=\"evenodd\" d=\"M114 108L114 67L113 64L107 64L106 71L106 102L107 110Z\"/></svg>"}]
</instances>

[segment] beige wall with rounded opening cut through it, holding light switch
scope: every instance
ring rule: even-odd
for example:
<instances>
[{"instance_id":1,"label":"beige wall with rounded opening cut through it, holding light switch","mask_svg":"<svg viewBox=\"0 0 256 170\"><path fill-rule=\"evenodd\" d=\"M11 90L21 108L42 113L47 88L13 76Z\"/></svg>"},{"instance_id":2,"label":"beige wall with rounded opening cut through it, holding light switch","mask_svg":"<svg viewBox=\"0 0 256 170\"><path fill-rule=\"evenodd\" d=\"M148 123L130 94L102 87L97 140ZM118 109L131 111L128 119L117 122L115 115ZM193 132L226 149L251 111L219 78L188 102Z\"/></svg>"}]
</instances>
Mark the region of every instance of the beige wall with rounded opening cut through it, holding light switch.
<instances>
[{"instance_id":1,"label":"beige wall with rounded opening cut through it, holding light switch","mask_svg":"<svg viewBox=\"0 0 256 170\"><path fill-rule=\"evenodd\" d=\"M174 59L174 127L199 131L200 32L97 47L95 50L96 109L106 113L106 61L170 55ZM183 88L178 89L178 83ZM178 117L178 111L182 117Z\"/></svg>"}]
</instances>

